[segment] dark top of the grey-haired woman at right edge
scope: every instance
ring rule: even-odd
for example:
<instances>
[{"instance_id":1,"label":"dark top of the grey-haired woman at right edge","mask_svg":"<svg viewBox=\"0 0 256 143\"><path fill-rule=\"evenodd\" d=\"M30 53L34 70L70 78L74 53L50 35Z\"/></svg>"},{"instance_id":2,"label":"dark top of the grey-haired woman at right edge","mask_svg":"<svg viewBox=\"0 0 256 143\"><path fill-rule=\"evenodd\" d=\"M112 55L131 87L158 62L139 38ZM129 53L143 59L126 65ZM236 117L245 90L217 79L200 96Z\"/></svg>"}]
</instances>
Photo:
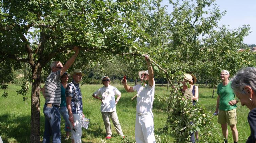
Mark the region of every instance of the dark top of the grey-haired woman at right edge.
<instances>
[{"instance_id":1,"label":"dark top of the grey-haired woman at right edge","mask_svg":"<svg viewBox=\"0 0 256 143\"><path fill-rule=\"evenodd\" d=\"M254 108L249 112L247 120L250 125L251 135L247 139L246 143L255 143L256 141L256 108Z\"/></svg>"}]
</instances>

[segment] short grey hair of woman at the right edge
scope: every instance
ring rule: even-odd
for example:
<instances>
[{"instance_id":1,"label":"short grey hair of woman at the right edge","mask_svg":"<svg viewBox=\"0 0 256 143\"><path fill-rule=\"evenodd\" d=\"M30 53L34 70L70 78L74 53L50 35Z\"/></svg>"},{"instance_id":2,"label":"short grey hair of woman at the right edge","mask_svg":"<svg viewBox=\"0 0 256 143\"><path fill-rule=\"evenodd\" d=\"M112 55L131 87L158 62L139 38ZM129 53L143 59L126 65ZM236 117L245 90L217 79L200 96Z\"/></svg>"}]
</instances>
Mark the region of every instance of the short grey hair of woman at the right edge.
<instances>
[{"instance_id":1,"label":"short grey hair of woman at the right edge","mask_svg":"<svg viewBox=\"0 0 256 143\"><path fill-rule=\"evenodd\" d=\"M231 88L234 91L243 93L245 86L250 86L254 92L256 91L256 68L255 67L246 67L241 68L234 78L231 79ZM256 92L255 92L256 93Z\"/></svg>"}]
</instances>

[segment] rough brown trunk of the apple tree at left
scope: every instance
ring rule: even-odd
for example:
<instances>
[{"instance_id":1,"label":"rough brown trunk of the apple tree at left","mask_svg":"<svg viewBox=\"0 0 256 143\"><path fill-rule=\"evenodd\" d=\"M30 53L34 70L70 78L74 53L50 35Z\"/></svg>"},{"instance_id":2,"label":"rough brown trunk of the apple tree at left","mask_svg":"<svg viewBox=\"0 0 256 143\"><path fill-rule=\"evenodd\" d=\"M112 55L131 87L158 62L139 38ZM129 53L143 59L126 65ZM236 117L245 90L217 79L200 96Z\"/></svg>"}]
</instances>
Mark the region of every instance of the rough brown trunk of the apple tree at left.
<instances>
[{"instance_id":1,"label":"rough brown trunk of the apple tree at left","mask_svg":"<svg viewBox=\"0 0 256 143\"><path fill-rule=\"evenodd\" d=\"M32 91L31 91L31 132L30 142L40 142L40 79L42 68L40 64L32 67Z\"/></svg>"}]
</instances>

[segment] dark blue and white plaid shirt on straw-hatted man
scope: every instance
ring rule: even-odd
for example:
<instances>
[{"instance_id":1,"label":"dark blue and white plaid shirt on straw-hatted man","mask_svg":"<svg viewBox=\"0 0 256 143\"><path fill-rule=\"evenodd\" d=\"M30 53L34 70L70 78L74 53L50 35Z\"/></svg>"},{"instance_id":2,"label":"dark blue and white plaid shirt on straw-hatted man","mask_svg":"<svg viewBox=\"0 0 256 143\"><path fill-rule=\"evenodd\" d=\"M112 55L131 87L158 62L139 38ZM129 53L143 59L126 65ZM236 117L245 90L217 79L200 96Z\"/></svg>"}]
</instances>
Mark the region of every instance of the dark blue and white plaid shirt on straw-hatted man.
<instances>
[{"instance_id":1,"label":"dark blue and white plaid shirt on straw-hatted man","mask_svg":"<svg viewBox=\"0 0 256 143\"><path fill-rule=\"evenodd\" d=\"M83 102L82 94L79 88L79 84L72 81L66 87L66 97L72 97L71 99L71 109L73 114L83 113Z\"/></svg>"}]
</instances>

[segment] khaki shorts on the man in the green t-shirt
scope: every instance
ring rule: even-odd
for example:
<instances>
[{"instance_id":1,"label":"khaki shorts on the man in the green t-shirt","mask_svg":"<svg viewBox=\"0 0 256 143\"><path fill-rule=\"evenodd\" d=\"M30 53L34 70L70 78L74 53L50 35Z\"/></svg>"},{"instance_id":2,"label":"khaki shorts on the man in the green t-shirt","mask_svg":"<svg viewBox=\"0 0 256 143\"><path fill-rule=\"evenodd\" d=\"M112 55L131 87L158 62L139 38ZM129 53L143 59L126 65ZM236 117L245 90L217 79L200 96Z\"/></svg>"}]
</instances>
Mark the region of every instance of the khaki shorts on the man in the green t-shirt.
<instances>
[{"instance_id":1,"label":"khaki shorts on the man in the green t-shirt","mask_svg":"<svg viewBox=\"0 0 256 143\"><path fill-rule=\"evenodd\" d=\"M236 109L223 111L219 110L218 114L218 123L227 125L235 125L236 122Z\"/></svg>"}]
</instances>

